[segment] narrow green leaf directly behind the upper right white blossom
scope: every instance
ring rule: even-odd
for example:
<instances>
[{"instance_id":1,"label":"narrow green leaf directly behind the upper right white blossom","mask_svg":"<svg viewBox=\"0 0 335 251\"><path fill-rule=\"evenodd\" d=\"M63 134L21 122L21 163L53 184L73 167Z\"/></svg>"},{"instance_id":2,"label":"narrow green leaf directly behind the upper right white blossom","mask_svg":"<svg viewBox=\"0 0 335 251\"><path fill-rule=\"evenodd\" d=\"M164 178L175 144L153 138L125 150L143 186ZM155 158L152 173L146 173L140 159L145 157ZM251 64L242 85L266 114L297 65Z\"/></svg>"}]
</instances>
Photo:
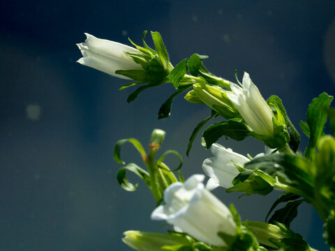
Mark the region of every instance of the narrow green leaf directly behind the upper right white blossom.
<instances>
[{"instance_id":1,"label":"narrow green leaf directly behind the upper right white blossom","mask_svg":"<svg viewBox=\"0 0 335 251\"><path fill-rule=\"evenodd\" d=\"M288 132L290 134L290 142L288 144L290 145L290 149L292 149L293 152L296 152L300 144L300 135L297 129L295 129L295 126L293 126L292 122L290 121L290 118L288 117L288 114L283 106L283 102L280 98L278 98L278 96L271 96L267 102L270 107L278 107L279 111L284 116L285 123L288 125Z\"/></svg>"}]
</instances>

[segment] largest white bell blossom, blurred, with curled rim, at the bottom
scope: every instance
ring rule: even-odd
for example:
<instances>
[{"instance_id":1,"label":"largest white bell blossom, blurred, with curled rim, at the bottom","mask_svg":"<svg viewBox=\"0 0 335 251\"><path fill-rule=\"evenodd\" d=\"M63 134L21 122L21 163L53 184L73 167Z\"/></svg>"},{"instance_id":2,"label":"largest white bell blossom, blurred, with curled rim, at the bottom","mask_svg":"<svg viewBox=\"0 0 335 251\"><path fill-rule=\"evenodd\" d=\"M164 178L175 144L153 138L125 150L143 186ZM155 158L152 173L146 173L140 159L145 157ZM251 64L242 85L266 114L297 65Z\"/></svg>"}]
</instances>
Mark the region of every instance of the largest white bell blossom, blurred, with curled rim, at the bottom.
<instances>
[{"instance_id":1,"label":"largest white bell blossom, blurred, with curled rim, at the bottom","mask_svg":"<svg viewBox=\"0 0 335 251\"><path fill-rule=\"evenodd\" d=\"M204 175L194 174L185 183L176 182L164 192L165 205L152 212L152 220L166 220L176 231L216 246L225 242L218 236L237 233L232 213L204 188Z\"/></svg>"}]
</instances>

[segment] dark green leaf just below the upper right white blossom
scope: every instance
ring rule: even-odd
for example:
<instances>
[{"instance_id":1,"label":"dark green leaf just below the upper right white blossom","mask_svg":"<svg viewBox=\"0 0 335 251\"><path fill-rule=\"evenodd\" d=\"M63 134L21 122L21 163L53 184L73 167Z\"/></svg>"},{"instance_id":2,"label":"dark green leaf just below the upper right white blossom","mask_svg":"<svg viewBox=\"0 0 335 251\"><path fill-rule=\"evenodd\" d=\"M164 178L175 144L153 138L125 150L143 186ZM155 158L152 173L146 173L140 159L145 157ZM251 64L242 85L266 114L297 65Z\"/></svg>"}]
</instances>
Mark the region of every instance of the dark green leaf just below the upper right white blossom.
<instances>
[{"instance_id":1,"label":"dark green leaf just below the upper right white blossom","mask_svg":"<svg viewBox=\"0 0 335 251\"><path fill-rule=\"evenodd\" d=\"M230 119L228 121L215 123L202 133L206 149L211 147L220 137L231 137L237 141L245 139L250 135L250 130L241 119Z\"/></svg>"}]
</instances>

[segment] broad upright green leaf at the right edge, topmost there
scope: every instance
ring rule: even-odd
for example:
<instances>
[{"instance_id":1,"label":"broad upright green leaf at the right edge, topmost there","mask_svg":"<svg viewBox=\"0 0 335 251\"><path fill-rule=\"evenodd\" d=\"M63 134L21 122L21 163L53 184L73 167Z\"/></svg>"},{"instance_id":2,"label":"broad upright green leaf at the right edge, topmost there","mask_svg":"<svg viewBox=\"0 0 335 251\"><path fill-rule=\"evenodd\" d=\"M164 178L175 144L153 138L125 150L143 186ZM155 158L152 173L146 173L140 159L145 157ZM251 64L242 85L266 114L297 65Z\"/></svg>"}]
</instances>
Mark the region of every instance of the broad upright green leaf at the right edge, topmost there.
<instances>
[{"instance_id":1,"label":"broad upright green leaf at the right edge, topmost there","mask_svg":"<svg viewBox=\"0 0 335 251\"><path fill-rule=\"evenodd\" d=\"M307 123L311 130L311 137L304 152L305 156L311 158L311 151L318 145L318 141L325 130L327 113L333 97L327 93L321 93L318 98L314 98L308 106Z\"/></svg>"}]
</instances>

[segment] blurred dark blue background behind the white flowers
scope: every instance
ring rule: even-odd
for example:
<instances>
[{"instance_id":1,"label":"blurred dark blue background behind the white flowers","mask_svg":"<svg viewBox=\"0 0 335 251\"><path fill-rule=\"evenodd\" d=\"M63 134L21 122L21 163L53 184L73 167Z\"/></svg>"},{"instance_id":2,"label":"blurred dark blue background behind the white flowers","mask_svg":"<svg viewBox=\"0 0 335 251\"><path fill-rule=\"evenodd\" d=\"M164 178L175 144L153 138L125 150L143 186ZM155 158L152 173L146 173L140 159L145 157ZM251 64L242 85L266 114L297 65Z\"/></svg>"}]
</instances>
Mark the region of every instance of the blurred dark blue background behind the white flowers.
<instances>
[{"instance_id":1,"label":"blurred dark blue background behind the white flowers","mask_svg":"<svg viewBox=\"0 0 335 251\"><path fill-rule=\"evenodd\" d=\"M128 104L135 89L118 91L122 79L76 63L84 32L140 44L142 31L159 31L173 64L198 53L209 55L205 65L221 77L248 72L265 98L283 100L296 127L312 98L334 95L335 1L4 0L0 9L0 250L131 250L121 242L123 231L164 232L163 222L150 220L155 202L144 183L130 176L140 186L126 192L116 181L118 139L135 137L146 146L154 128L166 130L162 149L183 154L186 177L202 173L211 156L200 137L185 155L207 107L180 96L172 116L158 121L171 84ZM263 151L253 139L219 142L243 154ZM142 165L130 145L122 157ZM220 188L215 194L234 203L242 220L264 220L280 195L238 199ZM292 227L313 248L329 250L311 206L299 207Z\"/></svg>"}]
</instances>

